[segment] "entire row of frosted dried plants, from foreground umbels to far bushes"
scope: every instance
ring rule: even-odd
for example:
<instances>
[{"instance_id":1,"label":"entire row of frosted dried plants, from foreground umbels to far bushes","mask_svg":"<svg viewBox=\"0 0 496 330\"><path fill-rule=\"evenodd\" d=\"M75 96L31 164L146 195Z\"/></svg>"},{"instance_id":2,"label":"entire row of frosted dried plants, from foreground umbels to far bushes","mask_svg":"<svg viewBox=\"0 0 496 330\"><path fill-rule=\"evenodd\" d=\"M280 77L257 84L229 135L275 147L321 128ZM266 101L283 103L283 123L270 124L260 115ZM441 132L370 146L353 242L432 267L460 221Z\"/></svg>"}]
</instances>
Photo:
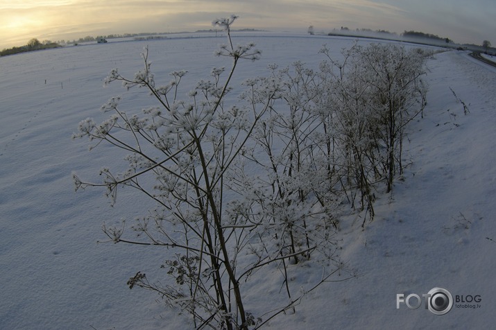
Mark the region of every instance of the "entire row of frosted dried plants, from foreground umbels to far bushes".
<instances>
[{"instance_id":1,"label":"entire row of frosted dried plants, from foreground umbels to far bushes","mask_svg":"<svg viewBox=\"0 0 496 330\"><path fill-rule=\"evenodd\" d=\"M348 202L373 219L379 185L391 191L402 171L407 123L425 107L422 54L380 45L354 45L342 62L324 47L327 60L317 70L273 64L268 76L245 80L231 104L239 62L260 55L253 43L234 45L236 19L214 21L227 31L216 55L231 60L229 70L212 69L181 98L187 71L158 85L146 48L134 78L113 69L106 83L142 87L156 106L127 114L123 98L110 98L101 107L108 119L85 119L74 134L96 141L92 148L107 143L128 153L126 169L103 168L101 182L74 174L76 189L103 186L114 203L117 189L128 186L155 202L131 227L139 238L124 227L103 231L114 243L179 251L162 265L174 285L151 283L141 271L128 285L159 293L196 328L259 327L306 294L290 283L300 265L323 270L312 288L344 270L336 254L339 211ZM269 265L290 301L271 311L246 303Z\"/></svg>"}]
</instances>

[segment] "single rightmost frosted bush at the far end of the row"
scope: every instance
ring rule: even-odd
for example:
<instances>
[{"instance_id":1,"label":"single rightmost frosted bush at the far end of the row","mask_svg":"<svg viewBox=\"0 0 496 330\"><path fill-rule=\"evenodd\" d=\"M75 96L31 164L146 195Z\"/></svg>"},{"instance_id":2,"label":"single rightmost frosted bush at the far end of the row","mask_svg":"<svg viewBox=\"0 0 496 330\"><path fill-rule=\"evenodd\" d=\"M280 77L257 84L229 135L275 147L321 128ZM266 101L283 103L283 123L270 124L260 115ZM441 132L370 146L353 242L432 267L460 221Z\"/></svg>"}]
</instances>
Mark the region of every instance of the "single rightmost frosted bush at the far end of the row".
<instances>
[{"instance_id":1,"label":"single rightmost frosted bush at the far end of the row","mask_svg":"<svg viewBox=\"0 0 496 330\"><path fill-rule=\"evenodd\" d=\"M392 189L393 177L402 173L404 128L425 107L427 86L421 78L425 74L424 59L422 53L394 44L373 44L361 51L361 72L368 73L367 83L375 96L375 137L386 148L382 162L387 191Z\"/></svg>"}]
</instances>

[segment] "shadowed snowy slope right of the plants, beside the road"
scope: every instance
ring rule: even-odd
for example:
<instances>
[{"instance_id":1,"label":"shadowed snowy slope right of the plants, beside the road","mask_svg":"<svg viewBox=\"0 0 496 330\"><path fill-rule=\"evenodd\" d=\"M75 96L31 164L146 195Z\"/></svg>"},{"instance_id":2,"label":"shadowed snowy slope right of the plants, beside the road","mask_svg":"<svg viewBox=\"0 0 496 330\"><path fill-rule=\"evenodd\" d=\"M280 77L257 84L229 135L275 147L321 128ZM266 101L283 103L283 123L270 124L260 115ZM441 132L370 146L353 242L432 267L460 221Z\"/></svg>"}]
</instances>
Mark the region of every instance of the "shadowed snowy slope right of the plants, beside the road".
<instances>
[{"instance_id":1,"label":"shadowed snowy slope right of the plants, beside the road","mask_svg":"<svg viewBox=\"0 0 496 330\"><path fill-rule=\"evenodd\" d=\"M425 118L410 128L405 148L412 164L404 180L377 201L377 218L364 232L359 220L343 229L342 257L359 277L309 298L300 307L307 320L295 329L318 329L317 324L490 329L495 324L496 243L490 239L496 241L496 71L456 52L437 54L428 67L429 104ZM470 103L470 114L465 116L450 88ZM430 313L423 301L419 309L405 304L396 309L397 294L422 297L435 287L450 290L453 299L480 295L481 302L455 302L446 315Z\"/></svg>"}]
</instances>

